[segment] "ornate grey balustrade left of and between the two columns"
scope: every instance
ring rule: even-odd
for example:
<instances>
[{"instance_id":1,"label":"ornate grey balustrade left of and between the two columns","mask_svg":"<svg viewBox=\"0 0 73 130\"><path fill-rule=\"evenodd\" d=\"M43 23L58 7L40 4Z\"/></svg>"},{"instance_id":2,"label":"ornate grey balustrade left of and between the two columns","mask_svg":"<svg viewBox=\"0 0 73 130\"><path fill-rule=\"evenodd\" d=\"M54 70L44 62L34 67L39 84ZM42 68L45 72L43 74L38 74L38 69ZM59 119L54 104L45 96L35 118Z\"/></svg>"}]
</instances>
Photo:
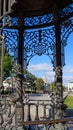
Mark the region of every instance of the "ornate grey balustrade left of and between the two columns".
<instances>
[{"instance_id":1,"label":"ornate grey balustrade left of and between the two columns","mask_svg":"<svg viewBox=\"0 0 73 130\"><path fill-rule=\"evenodd\" d=\"M5 130L9 130L11 127L14 126L17 127L17 106L16 103L12 100L12 98L13 97L10 96L3 96L0 105L0 127ZM50 115L50 102L51 101L49 100L26 100L26 102L24 103L24 121L45 121L52 119L53 117L51 117L52 115ZM28 128L28 125L26 124L25 127ZM36 127L36 129L38 127ZM43 126L41 125L41 127Z\"/></svg>"}]
</instances>

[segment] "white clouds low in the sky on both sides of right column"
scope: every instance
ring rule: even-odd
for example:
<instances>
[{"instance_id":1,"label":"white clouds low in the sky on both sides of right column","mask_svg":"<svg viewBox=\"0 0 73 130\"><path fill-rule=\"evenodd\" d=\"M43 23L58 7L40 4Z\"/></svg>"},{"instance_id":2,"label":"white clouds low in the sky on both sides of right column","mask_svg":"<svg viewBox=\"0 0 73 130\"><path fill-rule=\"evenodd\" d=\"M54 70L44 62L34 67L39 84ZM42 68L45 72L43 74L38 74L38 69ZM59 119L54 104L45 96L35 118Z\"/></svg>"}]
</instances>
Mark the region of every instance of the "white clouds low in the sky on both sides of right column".
<instances>
[{"instance_id":1,"label":"white clouds low in the sky on both sides of right column","mask_svg":"<svg viewBox=\"0 0 73 130\"><path fill-rule=\"evenodd\" d=\"M47 81L55 80L55 73L53 67L48 63L30 64L28 70L37 77L43 77L46 74ZM73 81L73 67L65 66L63 68L63 84L67 86L68 82Z\"/></svg>"}]
</instances>

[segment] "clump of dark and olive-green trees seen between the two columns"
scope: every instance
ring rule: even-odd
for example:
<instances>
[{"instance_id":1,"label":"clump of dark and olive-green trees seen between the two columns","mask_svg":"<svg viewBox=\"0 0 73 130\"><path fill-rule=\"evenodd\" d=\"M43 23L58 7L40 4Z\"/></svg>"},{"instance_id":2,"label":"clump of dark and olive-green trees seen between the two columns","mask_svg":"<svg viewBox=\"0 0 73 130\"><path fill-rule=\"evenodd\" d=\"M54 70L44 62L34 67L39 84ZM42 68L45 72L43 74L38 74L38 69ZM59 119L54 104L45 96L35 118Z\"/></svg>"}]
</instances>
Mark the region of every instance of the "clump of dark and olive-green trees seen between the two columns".
<instances>
[{"instance_id":1,"label":"clump of dark and olive-green trees seen between the two columns","mask_svg":"<svg viewBox=\"0 0 73 130\"><path fill-rule=\"evenodd\" d=\"M28 70L24 70L25 81L27 83L28 89L31 89L31 92L44 91L44 81L42 78L37 78L35 75L31 74Z\"/></svg>"}]
</instances>

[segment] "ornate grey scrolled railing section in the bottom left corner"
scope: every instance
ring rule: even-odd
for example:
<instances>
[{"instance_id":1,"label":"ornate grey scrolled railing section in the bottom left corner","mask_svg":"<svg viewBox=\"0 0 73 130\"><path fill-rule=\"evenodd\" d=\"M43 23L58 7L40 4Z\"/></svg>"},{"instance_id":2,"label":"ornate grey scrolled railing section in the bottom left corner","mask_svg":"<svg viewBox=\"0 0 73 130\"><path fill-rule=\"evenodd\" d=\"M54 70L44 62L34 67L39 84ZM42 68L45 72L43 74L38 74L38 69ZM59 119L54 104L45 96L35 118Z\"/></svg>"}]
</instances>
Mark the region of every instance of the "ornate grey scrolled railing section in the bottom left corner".
<instances>
[{"instance_id":1,"label":"ornate grey scrolled railing section in the bottom left corner","mask_svg":"<svg viewBox=\"0 0 73 130\"><path fill-rule=\"evenodd\" d=\"M4 96L0 97L0 128L10 129L12 118L15 115L16 104L10 101L10 98ZM12 109L12 110L11 110Z\"/></svg>"}]
</instances>

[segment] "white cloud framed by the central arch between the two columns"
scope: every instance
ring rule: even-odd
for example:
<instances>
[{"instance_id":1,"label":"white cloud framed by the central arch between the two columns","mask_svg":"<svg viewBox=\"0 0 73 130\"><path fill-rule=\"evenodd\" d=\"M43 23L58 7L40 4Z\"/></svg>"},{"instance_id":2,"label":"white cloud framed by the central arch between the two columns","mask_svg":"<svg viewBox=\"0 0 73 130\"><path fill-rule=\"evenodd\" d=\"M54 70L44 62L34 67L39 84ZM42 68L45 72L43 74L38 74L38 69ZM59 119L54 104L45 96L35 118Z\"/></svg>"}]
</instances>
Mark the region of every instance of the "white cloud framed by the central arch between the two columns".
<instances>
[{"instance_id":1,"label":"white cloud framed by the central arch between the two columns","mask_svg":"<svg viewBox=\"0 0 73 130\"><path fill-rule=\"evenodd\" d=\"M53 67L49 65L48 63L43 63L43 64L30 64L28 66L28 71L33 73L37 77L43 78L44 75L46 74L47 81L50 83L54 81L54 72L53 72ZM41 74L42 73L42 74Z\"/></svg>"}]
</instances>

